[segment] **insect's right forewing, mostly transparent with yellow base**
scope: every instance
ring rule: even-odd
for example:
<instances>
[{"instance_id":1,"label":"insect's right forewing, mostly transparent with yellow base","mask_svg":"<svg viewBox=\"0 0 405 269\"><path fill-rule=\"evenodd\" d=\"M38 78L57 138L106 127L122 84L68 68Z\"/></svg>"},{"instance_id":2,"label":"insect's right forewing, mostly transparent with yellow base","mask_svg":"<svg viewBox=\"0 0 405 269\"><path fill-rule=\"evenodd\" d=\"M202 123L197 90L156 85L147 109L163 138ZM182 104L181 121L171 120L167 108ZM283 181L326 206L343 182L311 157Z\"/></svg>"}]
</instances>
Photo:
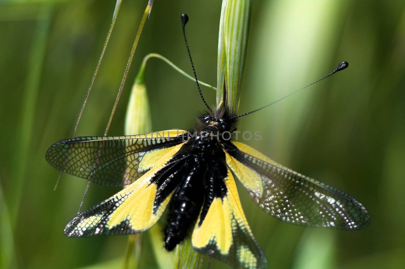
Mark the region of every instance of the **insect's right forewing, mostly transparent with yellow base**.
<instances>
[{"instance_id":1,"label":"insect's right forewing, mostly transparent with yellow base","mask_svg":"<svg viewBox=\"0 0 405 269\"><path fill-rule=\"evenodd\" d=\"M226 163L267 213L301 226L358 230L370 223L352 196L274 162L240 142L226 146Z\"/></svg>"}]
</instances>

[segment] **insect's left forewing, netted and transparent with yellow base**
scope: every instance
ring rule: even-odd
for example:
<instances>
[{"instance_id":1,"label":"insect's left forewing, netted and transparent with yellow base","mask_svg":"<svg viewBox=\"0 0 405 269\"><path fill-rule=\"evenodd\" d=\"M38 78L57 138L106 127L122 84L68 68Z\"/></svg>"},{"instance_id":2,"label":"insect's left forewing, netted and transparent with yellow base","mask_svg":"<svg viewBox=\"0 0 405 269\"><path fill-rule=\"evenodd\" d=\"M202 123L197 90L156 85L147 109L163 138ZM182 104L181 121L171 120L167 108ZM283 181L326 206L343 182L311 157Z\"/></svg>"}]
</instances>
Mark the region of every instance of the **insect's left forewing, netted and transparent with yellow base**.
<instances>
[{"instance_id":1,"label":"insect's left forewing, netted and transparent with yellow base","mask_svg":"<svg viewBox=\"0 0 405 269\"><path fill-rule=\"evenodd\" d=\"M183 130L126 137L75 137L53 144L47 161L59 171L104 186L131 184L183 143ZM97 163L96 163L97 160Z\"/></svg>"}]
</instances>

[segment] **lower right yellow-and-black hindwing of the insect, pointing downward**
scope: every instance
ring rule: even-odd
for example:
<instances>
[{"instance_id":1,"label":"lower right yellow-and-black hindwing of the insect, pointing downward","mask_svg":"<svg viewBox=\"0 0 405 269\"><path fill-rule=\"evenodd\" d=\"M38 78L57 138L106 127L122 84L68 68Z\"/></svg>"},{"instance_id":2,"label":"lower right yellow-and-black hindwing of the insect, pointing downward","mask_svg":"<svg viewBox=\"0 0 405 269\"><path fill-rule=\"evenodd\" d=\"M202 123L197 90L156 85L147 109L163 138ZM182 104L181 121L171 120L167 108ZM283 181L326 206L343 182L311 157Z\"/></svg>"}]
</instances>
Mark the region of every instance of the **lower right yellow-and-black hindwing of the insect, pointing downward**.
<instances>
[{"instance_id":1,"label":"lower right yellow-and-black hindwing of the insect, pointing downward","mask_svg":"<svg viewBox=\"0 0 405 269\"><path fill-rule=\"evenodd\" d=\"M247 224L232 173L222 166L206 175L211 183L192 233L192 246L233 268L267 268L266 256Z\"/></svg>"}]
</instances>

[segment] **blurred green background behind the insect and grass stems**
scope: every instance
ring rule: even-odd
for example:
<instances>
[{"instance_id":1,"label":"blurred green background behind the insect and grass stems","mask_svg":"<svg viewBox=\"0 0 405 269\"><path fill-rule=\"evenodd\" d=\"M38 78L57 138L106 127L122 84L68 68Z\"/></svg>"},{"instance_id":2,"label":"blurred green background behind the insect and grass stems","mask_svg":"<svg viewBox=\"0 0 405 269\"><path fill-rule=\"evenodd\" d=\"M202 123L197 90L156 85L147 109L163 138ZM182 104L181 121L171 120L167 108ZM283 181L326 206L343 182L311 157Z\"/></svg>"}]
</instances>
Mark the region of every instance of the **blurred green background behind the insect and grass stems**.
<instances>
[{"instance_id":1,"label":"blurred green background behind the insect and grass stems","mask_svg":"<svg viewBox=\"0 0 405 269\"><path fill-rule=\"evenodd\" d=\"M77 136L102 135L146 1L124 0ZM115 1L0 2L0 267L122 267L128 238L70 239L87 181L45 161L70 137L104 43ZM216 85L221 2L155 0L109 131L122 135L142 58L160 53ZM240 112L265 105L332 71L311 89L241 118L249 141L292 169L336 186L367 207L362 231L302 228L268 216L240 188L271 268L401 268L405 264L405 5L403 1L254 1ZM153 130L187 128L204 109L195 83L160 60L145 81ZM209 104L215 92L203 87ZM240 186L239 186L240 187ZM117 192L92 184L84 208ZM156 267L144 237L141 268ZM162 243L163 248L163 243ZM205 264L207 259L205 259ZM211 268L223 268L213 260Z\"/></svg>"}]
</instances>

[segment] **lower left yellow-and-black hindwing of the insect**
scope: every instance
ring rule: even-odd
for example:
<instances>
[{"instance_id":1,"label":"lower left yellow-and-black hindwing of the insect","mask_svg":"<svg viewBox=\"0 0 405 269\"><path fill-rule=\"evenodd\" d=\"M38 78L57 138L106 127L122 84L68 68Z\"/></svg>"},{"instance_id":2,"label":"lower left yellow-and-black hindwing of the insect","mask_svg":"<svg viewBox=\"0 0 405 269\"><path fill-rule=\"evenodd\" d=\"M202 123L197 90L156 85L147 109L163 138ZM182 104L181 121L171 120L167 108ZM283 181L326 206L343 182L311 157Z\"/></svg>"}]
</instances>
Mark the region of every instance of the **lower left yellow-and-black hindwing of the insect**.
<instances>
[{"instance_id":1,"label":"lower left yellow-and-black hindwing of the insect","mask_svg":"<svg viewBox=\"0 0 405 269\"><path fill-rule=\"evenodd\" d=\"M151 228L173 196L184 159L167 158L127 188L80 213L66 225L65 235L127 235Z\"/></svg>"}]
</instances>

